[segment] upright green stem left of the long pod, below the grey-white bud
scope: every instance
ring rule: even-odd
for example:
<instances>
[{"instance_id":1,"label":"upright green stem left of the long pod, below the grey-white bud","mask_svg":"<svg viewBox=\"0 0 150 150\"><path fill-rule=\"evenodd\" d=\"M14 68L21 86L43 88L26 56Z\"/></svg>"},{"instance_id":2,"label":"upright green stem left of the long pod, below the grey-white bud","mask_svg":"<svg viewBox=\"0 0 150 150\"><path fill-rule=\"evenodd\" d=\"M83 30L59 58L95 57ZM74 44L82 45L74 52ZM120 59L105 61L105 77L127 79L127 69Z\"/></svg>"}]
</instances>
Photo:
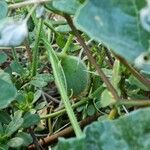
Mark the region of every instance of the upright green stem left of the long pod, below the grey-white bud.
<instances>
[{"instance_id":1,"label":"upright green stem left of the long pod, below the grey-white bud","mask_svg":"<svg viewBox=\"0 0 150 150\"><path fill-rule=\"evenodd\" d=\"M38 66L38 54L39 54L39 41L40 41L40 33L42 29L43 20L39 19L38 27L37 27L37 33L36 33L36 40L35 40L35 46L33 51L33 59L32 59L32 68L31 68L31 76L36 75L37 66Z\"/></svg>"}]
</instances>

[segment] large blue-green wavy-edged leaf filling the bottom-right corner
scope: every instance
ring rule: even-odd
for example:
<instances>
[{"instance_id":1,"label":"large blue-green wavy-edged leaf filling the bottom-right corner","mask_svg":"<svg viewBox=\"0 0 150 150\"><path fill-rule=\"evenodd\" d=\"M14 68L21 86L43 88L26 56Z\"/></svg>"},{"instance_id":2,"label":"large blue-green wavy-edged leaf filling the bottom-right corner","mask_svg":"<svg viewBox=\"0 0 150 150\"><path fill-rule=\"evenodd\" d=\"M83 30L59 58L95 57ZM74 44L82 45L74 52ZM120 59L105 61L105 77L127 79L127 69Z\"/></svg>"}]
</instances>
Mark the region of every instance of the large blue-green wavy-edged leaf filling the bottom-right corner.
<instances>
[{"instance_id":1,"label":"large blue-green wavy-edged leaf filling the bottom-right corner","mask_svg":"<svg viewBox=\"0 0 150 150\"><path fill-rule=\"evenodd\" d=\"M56 150L149 150L149 114L150 108L145 108L114 121L94 122L84 130L85 138L60 139Z\"/></svg>"}]
</instances>

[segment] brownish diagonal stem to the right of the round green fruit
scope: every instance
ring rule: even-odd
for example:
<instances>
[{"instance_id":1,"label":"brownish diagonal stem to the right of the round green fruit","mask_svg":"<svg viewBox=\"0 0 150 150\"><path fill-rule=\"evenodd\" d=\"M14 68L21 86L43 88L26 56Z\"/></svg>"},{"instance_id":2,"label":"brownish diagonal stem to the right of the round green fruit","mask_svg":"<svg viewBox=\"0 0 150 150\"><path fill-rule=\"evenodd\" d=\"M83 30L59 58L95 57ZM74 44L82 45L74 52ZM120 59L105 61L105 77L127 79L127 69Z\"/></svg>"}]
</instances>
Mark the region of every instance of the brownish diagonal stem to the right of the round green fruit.
<instances>
[{"instance_id":1,"label":"brownish diagonal stem to the right of the round green fruit","mask_svg":"<svg viewBox=\"0 0 150 150\"><path fill-rule=\"evenodd\" d=\"M113 95L115 100L120 99L118 96L118 93L116 91L116 89L113 87L113 85L110 83L110 81L107 79L106 75L104 74L104 72L101 70L101 68L98 66L98 64L96 63L95 59L93 58L89 47L85 44L84 40L82 39L80 33L78 32L78 30L76 29L76 27L73 24L73 21L71 19L70 16L65 15L64 16L70 26L70 28L72 29L72 31L74 32L75 36L77 37L78 42L80 43L80 45L83 47L89 61L94 65L94 67L96 68L99 76L101 77L101 79L103 80L103 82L106 84L108 90L111 92L111 94Z\"/></svg>"}]
</instances>

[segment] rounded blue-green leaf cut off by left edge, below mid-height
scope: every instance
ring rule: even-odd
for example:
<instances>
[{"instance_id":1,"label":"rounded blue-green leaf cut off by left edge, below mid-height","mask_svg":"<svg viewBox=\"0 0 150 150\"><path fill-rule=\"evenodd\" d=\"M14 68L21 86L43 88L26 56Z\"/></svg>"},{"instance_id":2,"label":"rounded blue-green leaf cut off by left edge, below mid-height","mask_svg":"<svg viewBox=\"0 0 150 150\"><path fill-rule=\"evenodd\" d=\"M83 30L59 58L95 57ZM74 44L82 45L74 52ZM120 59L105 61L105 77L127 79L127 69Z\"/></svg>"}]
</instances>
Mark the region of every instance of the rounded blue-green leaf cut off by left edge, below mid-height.
<instances>
[{"instance_id":1,"label":"rounded blue-green leaf cut off by left edge, below mid-height","mask_svg":"<svg viewBox=\"0 0 150 150\"><path fill-rule=\"evenodd\" d=\"M6 108L12 101L15 100L17 91L16 91L16 88L12 84L2 79L0 79L0 91L1 91L0 109L3 109L3 108Z\"/></svg>"}]
</instances>

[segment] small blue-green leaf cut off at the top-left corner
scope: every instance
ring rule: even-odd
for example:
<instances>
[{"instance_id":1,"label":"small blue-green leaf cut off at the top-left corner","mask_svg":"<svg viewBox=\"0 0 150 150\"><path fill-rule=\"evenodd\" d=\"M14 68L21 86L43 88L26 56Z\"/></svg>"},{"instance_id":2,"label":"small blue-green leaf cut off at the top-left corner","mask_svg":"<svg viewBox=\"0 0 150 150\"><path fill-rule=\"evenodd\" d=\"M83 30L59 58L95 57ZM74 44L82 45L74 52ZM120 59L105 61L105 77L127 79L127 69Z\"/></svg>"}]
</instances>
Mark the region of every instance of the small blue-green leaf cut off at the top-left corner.
<instances>
[{"instance_id":1,"label":"small blue-green leaf cut off at the top-left corner","mask_svg":"<svg viewBox=\"0 0 150 150\"><path fill-rule=\"evenodd\" d=\"M0 1L0 10L0 19L3 19L7 16L8 11L7 3L5 2L5 0Z\"/></svg>"}]
</instances>

